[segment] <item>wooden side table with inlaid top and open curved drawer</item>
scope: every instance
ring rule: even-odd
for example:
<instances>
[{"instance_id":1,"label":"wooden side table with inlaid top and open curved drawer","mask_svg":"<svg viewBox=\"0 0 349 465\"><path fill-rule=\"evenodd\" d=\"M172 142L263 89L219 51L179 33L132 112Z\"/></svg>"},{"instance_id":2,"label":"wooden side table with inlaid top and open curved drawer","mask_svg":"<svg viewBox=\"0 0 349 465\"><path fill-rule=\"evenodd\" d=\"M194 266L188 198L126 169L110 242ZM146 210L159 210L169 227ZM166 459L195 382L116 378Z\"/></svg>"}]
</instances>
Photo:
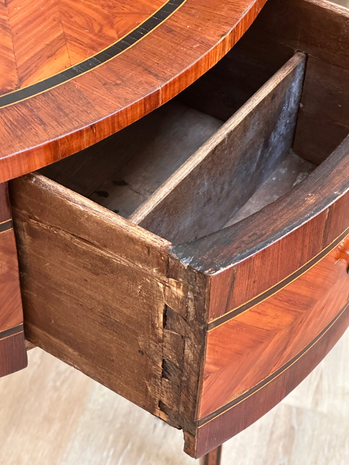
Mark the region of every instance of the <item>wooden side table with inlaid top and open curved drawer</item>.
<instances>
[{"instance_id":1,"label":"wooden side table with inlaid top and open curved drawer","mask_svg":"<svg viewBox=\"0 0 349 465\"><path fill-rule=\"evenodd\" d=\"M207 464L349 324L349 11L264 3L1 7L1 374L21 289L26 339ZM292 151L315 170L237 221Z\"/></svg>"}]
</instances>

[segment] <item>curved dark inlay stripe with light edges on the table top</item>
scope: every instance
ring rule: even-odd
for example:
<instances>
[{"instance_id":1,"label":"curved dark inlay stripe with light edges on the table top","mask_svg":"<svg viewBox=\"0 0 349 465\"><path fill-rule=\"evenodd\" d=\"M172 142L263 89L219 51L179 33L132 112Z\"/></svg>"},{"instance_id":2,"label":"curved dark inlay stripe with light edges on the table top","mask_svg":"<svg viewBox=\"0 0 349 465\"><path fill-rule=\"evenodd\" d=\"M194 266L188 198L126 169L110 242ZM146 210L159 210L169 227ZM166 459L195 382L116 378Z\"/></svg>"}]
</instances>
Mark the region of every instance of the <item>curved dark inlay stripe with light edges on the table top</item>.
<instances>
[{"instance_id":1,"label":"curved dark inlay stripe with light edges on the table top","mask_svg":"<svg viewBox=\"0 0 349 465\"><path fill-rule=\"evenodd\" d=\"M29 99L36 94L46 92L53 87L57 87L64 82L77 78L79 75L91 71L97 66L106 63L107 61L115 58L122 52L125 52L128 48L136 44L139 40L145 37L148 33L158 27L164 20L167 20L175 11L181 7L187 0L169 0L165 3L158 11L156 11L147 20L141 23L133 31L128 33L122 39L114 42L114 44L108 46L105 50L96 53L94 56L87 58L64 71L50 76L40 82L36 82L31 86L23 87L22 89L15 90L11 93L0 96L0 108L21 100Z\"/></svg>"}]
</instances>

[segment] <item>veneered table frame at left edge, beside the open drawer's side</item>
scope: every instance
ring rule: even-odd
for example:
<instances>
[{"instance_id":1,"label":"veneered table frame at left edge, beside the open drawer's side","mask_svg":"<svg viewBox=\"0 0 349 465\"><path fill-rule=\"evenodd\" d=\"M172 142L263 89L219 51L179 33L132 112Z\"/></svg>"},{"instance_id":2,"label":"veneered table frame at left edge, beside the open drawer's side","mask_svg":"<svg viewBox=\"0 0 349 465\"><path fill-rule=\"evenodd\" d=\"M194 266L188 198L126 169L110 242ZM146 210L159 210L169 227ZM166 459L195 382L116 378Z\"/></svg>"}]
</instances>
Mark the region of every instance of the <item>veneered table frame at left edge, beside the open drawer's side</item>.
<instances>
[{"instance_id":1,"label":"veneered table frame at left edge, beside the open drawer's side","mask_svg":"<svg viewBox=\"0 0 349 465\"><path fill-rule=\"evenodd\" d=\"M20 277L7 183L0 184L0 377L27 366Z\"/></svg>"}]
</instances>

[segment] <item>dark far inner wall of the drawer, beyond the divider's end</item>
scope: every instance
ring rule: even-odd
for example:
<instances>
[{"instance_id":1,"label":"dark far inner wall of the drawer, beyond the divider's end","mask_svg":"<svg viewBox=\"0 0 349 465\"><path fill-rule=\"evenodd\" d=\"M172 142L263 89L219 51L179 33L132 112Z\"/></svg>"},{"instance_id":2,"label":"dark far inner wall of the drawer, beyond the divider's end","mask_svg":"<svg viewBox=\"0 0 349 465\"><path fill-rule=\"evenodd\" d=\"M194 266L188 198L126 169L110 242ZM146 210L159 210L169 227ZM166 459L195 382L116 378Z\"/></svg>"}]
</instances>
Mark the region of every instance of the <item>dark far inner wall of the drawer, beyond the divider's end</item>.
<instances>
[{"instance_id":1,"label":"dark far inner wall of the drawer, beyond the divider's end","mask_svg":"<svg viewBox=\"0 0 349 465\"><path fill-rule=\"evenodd\" d=\"M268 1L227 57L228 72L221 73L223 63L214 72L212 95L220 93L222 98L211 114L222 118L229 106L241 105L295 51L302 51L308 62L294 149L313 163L321 163L349 133L348 31L347 6L327 0ZM236 62L242 66L236 67ZM231 79L236 83L234 98L217 90ZM199 102L199 89L193 104L205 105Z\"/></svg>"}]
</instances>

